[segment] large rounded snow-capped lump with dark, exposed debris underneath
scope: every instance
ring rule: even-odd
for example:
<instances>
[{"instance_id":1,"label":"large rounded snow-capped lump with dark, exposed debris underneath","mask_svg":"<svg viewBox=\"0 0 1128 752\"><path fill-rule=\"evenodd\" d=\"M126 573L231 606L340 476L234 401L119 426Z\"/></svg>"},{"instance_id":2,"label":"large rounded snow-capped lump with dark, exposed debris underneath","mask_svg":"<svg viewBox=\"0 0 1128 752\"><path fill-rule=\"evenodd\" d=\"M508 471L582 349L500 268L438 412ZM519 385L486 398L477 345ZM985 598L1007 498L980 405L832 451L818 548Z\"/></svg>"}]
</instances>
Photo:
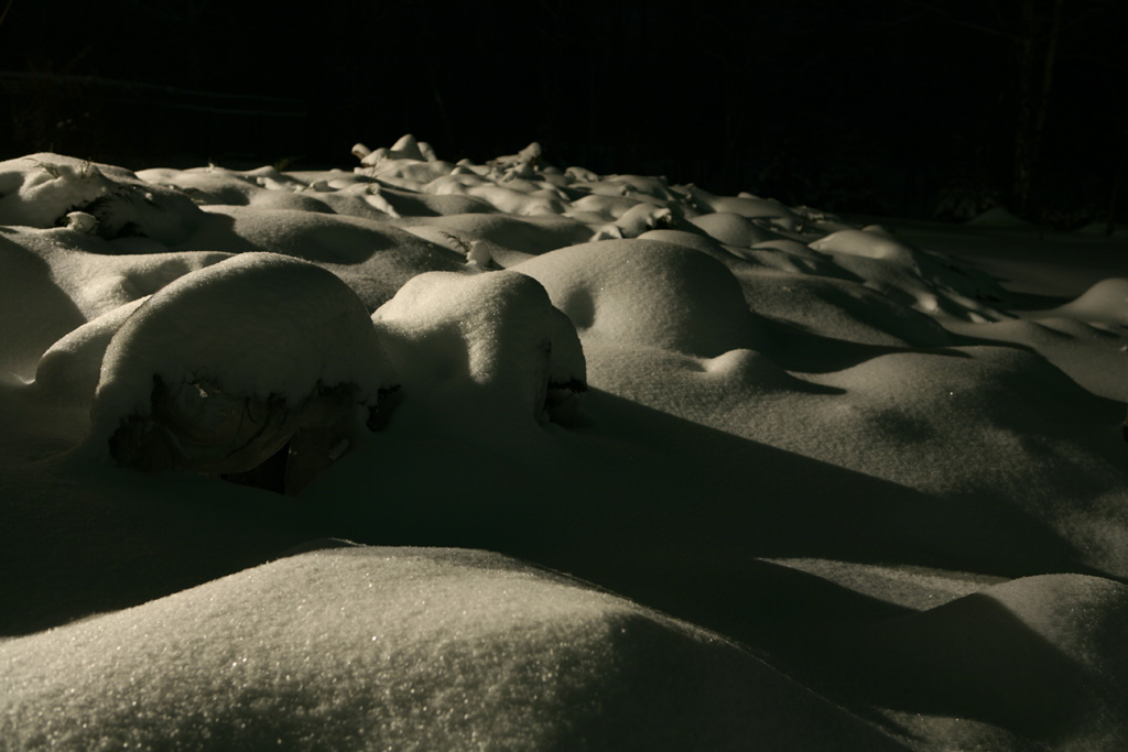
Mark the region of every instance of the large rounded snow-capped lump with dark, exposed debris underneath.
<instances>
[{"instance_id":1,"label":"large rounded snow-capped lump with dark, exposed debris underneath","mask_svg":"<svg viewBox=\"0 0 1128 752\"><path fill-rule=\"evenodd\" d=\"M106 347L87 444L129 467L247 471L300 430L347 442L355 414L363 424L394 381L368 311L338 277L240 254L129 315Z\"/></svg>"}]
</instances>

